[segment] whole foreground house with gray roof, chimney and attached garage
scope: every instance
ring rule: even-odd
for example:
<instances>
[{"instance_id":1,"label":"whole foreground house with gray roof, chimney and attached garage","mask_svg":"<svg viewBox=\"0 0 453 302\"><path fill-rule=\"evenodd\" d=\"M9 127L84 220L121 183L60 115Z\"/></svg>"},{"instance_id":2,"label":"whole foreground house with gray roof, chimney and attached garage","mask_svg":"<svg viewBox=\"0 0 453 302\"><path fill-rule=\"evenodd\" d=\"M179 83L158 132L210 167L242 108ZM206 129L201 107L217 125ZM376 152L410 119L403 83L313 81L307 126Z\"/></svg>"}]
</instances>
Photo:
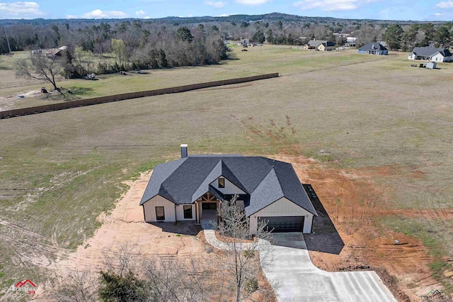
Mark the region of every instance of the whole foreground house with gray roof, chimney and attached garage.
<instances>
[{"instance_id":1,"label":"whole foreground house with gray roof, chimney and attached garage","mask_svg":"<svg viewBox=\"0 0 453 302\"><path fill-rule=\"evenodd\" d=\"M311 189L311 198L316 196ZM156 165L140 206L149 223L212 218L224 201L236 198L251 233L258 221L274 232L311 233L317 216L291 164L266 157L188 155Z\"/></svg>"}]
</instances>

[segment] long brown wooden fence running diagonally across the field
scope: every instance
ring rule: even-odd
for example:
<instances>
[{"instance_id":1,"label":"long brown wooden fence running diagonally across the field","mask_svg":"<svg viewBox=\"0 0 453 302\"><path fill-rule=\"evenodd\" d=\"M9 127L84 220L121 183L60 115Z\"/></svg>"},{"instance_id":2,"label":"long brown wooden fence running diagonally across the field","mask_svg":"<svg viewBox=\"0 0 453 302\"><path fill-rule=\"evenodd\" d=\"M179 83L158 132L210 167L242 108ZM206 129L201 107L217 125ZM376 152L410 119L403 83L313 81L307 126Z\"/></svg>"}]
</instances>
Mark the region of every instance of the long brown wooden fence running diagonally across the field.
<instances>
[{"instance_id":1,"label":"long brown wooden fence running diagonally across the field","mask_svg":"<svg viewBox=\"0 0 453 302\"><path fill-rule=\"evenodd\" d=\"M159 94L177 94L179 92L191 91L191 90L196 90L196 89L246 83L246 82L258 81L260 79L271 79L274 77L278 77L278 73L260 74L260 75L252 76L252 77L224 79L224 80L213 81L213 82L190 84L190 85L176 86L176 87L163 88L163 89L154 89L154 90L147 90L147 91L137 91L137 92L130 92L127 94L115 94L113 96L101 96L101 97L97 97L97 98L81 99L81 100L76 100L76 101L68 101L68 102L64 102L64 103L34 106L34 107L21 108L21 109L13 109L13 110L8 110L8 111L0 111L0 119L1 118L13 118L16 116L28 116L30 114L64 110L64 109L76 108L76 107L81 107L81 106L91 106L91 105L96 105L96 104L109 103L109 102L113 102L113 101L136 99L136 98L142 98L145 96L158 96Z\"/></svg>"}]
</instances>

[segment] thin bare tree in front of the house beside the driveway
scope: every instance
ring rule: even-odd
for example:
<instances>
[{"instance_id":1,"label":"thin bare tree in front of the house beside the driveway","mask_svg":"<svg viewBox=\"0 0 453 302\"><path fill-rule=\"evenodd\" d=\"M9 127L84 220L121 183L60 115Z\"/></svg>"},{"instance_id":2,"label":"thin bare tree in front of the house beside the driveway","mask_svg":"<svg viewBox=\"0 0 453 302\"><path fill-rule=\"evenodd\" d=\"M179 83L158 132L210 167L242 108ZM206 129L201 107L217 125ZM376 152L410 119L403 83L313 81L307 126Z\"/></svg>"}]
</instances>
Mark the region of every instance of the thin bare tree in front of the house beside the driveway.
<instances>
[{"instance_id":1,"label":"thin bare tree in front of the house beside the driveway","mask_svg":"<svg viewBox=\"0 0 453 302\"><path fill-rule=\"evenodd\" d=\"M256 233L252 235L246 213L236 206L236 198L234 196L231 201L222 203L218 213L222 220L216 227L221 236L231 239L229 248L225 250L225 255L218 257L218 262L231 277L235 299L239 302L255 291L268 291L258 286L258 275L261 267L270 264L273 236L264 221L258 222Z\"/></svg>"}]
</instances>

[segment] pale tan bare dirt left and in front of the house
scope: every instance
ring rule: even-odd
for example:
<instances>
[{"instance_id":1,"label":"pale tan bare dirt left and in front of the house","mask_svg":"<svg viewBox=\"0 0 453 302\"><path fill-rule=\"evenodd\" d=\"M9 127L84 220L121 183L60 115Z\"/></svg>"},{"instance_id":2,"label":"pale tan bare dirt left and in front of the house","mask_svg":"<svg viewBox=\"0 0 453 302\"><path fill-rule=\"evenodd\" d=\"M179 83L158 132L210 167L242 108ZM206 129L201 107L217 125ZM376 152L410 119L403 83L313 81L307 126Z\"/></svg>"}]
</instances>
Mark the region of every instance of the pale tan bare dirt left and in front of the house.
<instances>
[{"instance_id":1,"label":"pale tan bare dirt left and in front of the house","mask_svg":"<svg viewBox=\"0 0 453 302\"><path fill-rule=\"evenodd\" d=\"M159 255L163 258L190 257L202 255L205 247L200 244L201 228L193 223L156 224L144 223L143 209L139 206L144 189L151 177L142 174L136 181L127 181L130 189L117 203L111 213L101 214L102 222L96 234L79 246L66 259L53 264L64 273L71 269L103 269L101 260L105 251L128 242L137 245L144 256Z\"/></svg>"}]
</instances>

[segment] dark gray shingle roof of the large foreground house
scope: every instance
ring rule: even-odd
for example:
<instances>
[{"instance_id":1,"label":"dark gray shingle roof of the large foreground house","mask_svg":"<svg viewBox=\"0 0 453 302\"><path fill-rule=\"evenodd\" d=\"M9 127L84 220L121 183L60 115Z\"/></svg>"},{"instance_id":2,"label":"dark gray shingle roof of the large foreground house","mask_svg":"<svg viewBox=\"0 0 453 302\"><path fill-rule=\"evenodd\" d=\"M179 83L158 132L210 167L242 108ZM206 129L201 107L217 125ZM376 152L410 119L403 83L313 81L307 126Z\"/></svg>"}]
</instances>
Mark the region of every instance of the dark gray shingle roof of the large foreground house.
<instances>
[{"instance_id":1,"label":"dark gray shingle roof of the large foreground house","mask_svg":"<svg viewBox=\"0 0 453 302\"><path fill-rule=\"evenodd\" d=\"M140 205L156 195L176 204L193 203L212 192L210 184L220 176L250 196L247 216L282 197L317 215L292 165L266 157L189 156L158 164Z\"/></svg>"}]
</instances>

